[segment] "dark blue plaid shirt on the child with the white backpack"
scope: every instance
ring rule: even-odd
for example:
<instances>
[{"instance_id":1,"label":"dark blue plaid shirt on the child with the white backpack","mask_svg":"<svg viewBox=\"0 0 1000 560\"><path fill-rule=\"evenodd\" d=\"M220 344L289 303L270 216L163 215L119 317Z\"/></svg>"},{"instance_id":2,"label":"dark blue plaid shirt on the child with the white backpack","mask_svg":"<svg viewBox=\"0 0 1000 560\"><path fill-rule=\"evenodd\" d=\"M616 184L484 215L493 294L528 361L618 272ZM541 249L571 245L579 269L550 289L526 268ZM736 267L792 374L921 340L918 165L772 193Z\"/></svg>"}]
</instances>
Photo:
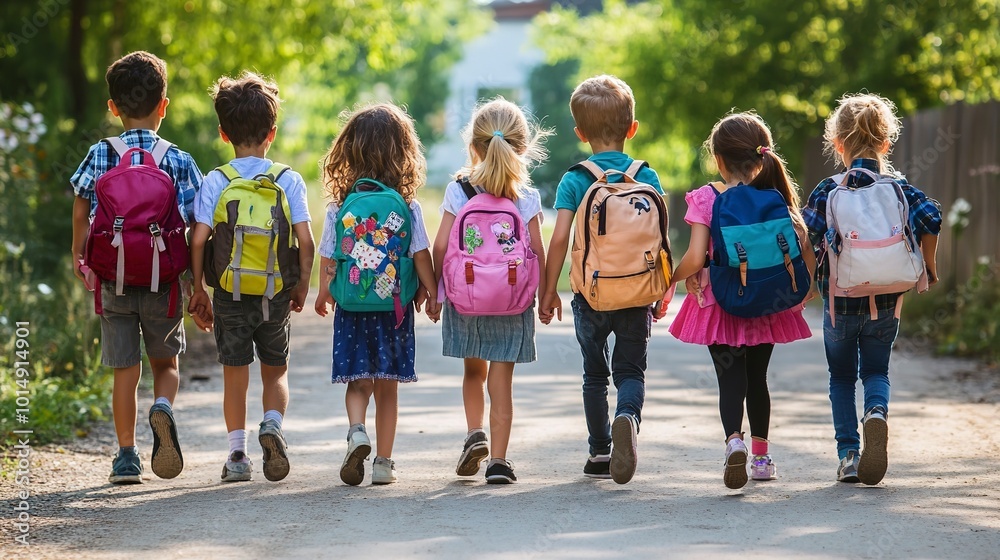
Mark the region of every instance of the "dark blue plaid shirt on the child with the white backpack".
<instances>
[{"instance_id":1,"label":"dark blue plaid shirt on the child with the white backpack","mask_svg":"<svg viewBox=\"0 0 1000 560\"><path fill-rule=\"evenodd\" d=\"M851 162L851 169L863 168L879 173L879 163L874 159L858 158ZM846 169L844 171L847 171ZM864 174L851 175L847 179L850 187L863 187L873 183L871 177ZM941 233L941 207L933 198L927 198L920 189L906 182L902 176L897 177L897 182L903 187L903 195L910 206L910 224L913 234L920 242L920 236L924 234L938 235ZM809 229L809 240L816 251L817 259L825 250L826 225L826 200L837 186L834 177L823 179L812 194L809 195L809 202L802 209L802 217L805 219L806 227ZM824 260L823 264L816 271L816 281L824 298L829 297L830 265ZM879 311L888 311L896 307L896 299L900 294L883 294L875 296L875 306ZM864 314L869 312L868 297L844 298L837 297L834 300L834 311L840 314Z\"/></svg>"}]
</instances>

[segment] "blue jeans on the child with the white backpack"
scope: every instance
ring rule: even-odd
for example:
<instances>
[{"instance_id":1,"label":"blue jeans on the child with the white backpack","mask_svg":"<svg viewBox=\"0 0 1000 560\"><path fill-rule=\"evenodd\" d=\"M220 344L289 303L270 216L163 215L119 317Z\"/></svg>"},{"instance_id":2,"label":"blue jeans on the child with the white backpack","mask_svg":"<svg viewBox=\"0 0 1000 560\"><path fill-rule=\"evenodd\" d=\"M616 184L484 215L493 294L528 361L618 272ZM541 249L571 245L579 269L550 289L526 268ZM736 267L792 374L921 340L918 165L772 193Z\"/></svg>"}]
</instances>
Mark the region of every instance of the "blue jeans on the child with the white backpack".
<instances>
[{"instance_id":1,"label":"blue jeans on the child with the white backpack","mask_svg":"<svg viewBox=\"0 0 1000 560\"><path fill-rule=\"evenodd\" d=\"M830 308L824 306L823 341L826 361L830 364L830 404L841 459L850 450L861 448L858 435L858 408L854 398L858 377L865 391L865 413L881 406L889 410L889 356L899 331L899 319L892 311L883 311L878 319L871 315L837 314L837 325L830 324Z\"/></svg>"}]
</instances>

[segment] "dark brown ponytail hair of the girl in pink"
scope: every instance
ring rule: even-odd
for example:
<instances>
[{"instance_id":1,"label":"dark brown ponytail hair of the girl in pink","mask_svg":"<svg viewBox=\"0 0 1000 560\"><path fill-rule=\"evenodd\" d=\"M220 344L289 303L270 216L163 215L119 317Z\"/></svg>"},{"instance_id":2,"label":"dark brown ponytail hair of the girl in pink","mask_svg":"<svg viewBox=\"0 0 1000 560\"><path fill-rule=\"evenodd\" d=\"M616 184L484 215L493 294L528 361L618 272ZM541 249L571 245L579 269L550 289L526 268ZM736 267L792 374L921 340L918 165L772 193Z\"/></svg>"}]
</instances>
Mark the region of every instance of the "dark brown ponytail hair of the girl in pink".
<instances>
[{"instance_id":1,"label":"dark brown ponytail hair of the girl in pink","mask_svg":"<svg viewBox=\"0 0 1000 560\"><path fill-rule=\"evenodd\" d=\"M788 175L785 160L775 151L771 130L764 119L754 112L727 115L712 128L705 148L718 156L726 169L738 177L748 178L750 185L774 188L781 193L796 225L803 225L799 212L799 191Z\"/></svg>"}]
</instances>

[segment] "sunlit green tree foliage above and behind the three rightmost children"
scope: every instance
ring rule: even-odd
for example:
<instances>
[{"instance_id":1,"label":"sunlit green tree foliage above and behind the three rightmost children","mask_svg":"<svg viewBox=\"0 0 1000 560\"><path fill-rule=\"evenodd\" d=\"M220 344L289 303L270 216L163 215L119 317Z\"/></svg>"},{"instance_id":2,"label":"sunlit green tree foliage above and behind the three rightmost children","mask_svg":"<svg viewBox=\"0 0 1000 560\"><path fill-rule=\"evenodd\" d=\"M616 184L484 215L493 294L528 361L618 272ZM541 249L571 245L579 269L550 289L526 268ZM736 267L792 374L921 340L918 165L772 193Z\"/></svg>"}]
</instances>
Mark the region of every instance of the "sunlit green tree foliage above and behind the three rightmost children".
<instances>
[{"instance_id":1,"label":"sunlit green tree foliage above and behind the three rightmost children","mask_svg":"<svg viewBox=\"0 0 1000 560\"><path fill-rule=\"evenodd\" d=\"M801 171L805 141L845 92L879 92L903 114L1000 98L995 0L608 0L603 13L556 9L536 22L550 60L580 59L581 76L632 86L636 151L675 189L702 180L696 146L731 109L756 108ZM596 37L600 48L581 49Z\"/></svg>"}]
</instances>

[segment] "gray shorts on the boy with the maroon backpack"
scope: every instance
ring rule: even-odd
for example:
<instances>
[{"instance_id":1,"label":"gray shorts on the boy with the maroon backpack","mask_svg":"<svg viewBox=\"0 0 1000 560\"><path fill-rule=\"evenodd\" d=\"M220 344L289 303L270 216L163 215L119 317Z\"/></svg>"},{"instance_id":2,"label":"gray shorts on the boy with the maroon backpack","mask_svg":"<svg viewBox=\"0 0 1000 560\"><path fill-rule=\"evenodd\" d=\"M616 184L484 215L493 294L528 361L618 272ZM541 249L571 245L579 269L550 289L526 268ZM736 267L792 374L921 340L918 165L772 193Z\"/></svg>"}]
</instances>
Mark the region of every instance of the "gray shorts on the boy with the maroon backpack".
<instances>
[{"instance_id":1,"label":"gray shorts on the boy with the maroon backpack","mask_svg":"<svg viewBox=\"0 0 1000 560\"><path fill-rule=\"evenodd\" d=\"M142 360L141 342L150 358L173 358L184 351L184 296L177 291L173 318L170 284L153 293L141 286L125 286L115 295L113 282L101 283L101 363L111 368L128 368Z\"/></svg>"}]
</instances>

